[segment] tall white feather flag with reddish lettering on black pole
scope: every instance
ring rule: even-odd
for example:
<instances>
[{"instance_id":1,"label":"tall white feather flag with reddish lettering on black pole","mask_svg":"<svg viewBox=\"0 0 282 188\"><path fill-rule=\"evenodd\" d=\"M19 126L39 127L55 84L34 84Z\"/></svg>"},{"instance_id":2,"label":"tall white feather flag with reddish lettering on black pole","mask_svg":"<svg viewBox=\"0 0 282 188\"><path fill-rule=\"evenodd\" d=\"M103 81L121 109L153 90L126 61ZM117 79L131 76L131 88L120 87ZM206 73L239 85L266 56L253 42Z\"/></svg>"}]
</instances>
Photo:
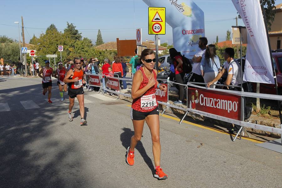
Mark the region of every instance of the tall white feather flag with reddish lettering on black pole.
<instances>
[{"instance_id":1,"label":"tall white feather flag with reddish lettering on black pole","mask_svg":"<svg viewBox=\"0 0 282 188\"><path fill-rule=\"evenodd\" d=\"M259 0L232 0L248 32L244 81L274 84L269 45Z\"/></svg>"}]
</instances>

